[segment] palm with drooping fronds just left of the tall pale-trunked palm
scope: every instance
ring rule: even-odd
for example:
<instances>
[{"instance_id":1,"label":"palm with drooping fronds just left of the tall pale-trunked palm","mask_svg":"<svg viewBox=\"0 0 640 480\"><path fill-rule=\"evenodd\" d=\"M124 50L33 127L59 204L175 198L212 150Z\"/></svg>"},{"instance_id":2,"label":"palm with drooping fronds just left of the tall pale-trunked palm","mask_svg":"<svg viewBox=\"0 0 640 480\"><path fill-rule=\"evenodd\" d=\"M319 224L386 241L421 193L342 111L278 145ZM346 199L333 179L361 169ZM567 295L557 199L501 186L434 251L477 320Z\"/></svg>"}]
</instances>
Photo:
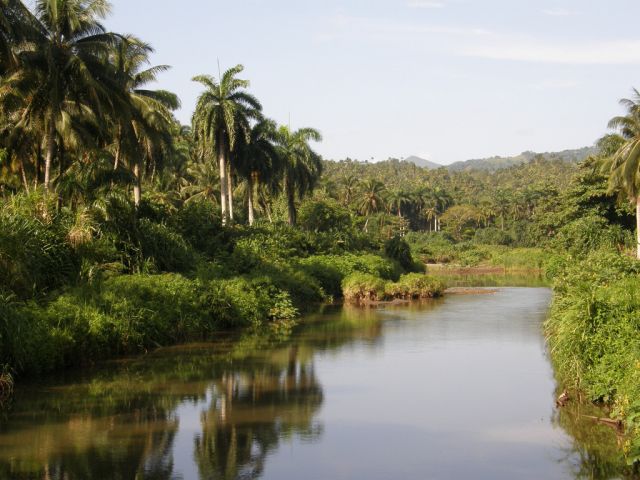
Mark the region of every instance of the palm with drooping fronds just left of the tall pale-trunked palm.
<instances>
[{"instance_id":1,"label":"palm with drooping fronds just left of the tall pale-trunked palm","mask_svg":"<svg viewBox=\"0 0 640 480\"><path fill-rule=\"evenodd\" d=\"M121 160L128 160L135 178L134 203L142 197L143 160L155 163L163 149L173 145L174 120L171 111L180 107L177 95L166 90L144 88L156 75L168 70L167 65L144 68L153 52L150 45L126 35L118 38L111 52L118 84L128 97L128 108L115 117L114 170Z\"/></svg>"}]
</instances>

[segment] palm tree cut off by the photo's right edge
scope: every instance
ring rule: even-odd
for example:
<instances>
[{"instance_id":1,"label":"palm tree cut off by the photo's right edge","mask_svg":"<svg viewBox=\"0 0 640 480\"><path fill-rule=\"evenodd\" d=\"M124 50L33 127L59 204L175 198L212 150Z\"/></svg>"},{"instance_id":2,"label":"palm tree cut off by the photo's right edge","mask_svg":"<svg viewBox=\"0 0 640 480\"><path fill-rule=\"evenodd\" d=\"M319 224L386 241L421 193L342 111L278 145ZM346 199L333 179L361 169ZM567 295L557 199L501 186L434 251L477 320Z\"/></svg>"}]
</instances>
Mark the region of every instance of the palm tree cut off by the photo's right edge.
<instances>
[{"instance_id":1,"label":"palm tree cut off by the photo's right edge","mask_svg":"<svg viewBox=\"0 0 640 480\"><path fill-rule=\"evenodd\" d=\"M633 97L623 98L620 104L627 114L612 118L609 128L617 129L625 141L603 168L609 173L610 190L623 190L636 205L636 256L640 259L640 92L634 88Z\"/></svg>"}]
</instances>

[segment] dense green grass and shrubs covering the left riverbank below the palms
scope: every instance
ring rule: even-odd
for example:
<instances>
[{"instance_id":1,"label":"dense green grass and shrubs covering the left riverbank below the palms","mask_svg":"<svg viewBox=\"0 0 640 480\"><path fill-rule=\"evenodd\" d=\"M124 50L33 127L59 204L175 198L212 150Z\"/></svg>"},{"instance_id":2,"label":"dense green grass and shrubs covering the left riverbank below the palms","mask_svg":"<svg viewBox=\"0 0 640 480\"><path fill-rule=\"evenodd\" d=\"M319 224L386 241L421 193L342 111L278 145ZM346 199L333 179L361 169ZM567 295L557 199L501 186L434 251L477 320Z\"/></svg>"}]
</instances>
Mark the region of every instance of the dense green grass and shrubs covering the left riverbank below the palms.
<instances>
[{"instance_id":1,"label":"dense green grass and shrubs covering the left riverbank below the palms","mask_svg":"<svg viewBox=\"0 0 640 480\"><path fill-rule=\"evenodd\" d=\"M3 391L8 373L42 374L221 330L290 323L341 298L347 277L391 284L419 268L398 239L225 228L207 203L134 210L114 201L101 218L84 218L44 197L14 197L0 213Z\"/></svg>"}]
</instances>

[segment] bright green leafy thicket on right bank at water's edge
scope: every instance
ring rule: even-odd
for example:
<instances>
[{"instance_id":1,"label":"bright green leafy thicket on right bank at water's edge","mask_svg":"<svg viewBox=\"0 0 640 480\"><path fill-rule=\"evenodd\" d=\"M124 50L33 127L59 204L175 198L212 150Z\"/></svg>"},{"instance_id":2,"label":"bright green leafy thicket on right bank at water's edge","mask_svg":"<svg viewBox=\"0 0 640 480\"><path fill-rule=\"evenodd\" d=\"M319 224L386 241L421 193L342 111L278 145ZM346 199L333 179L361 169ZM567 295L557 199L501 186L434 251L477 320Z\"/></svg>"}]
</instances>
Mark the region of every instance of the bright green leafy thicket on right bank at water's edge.
<instances>
[{"instance_id":1,"label":"bright green leafy thicket on right bank at water's edge","mask_svg":"<svg viewBox=\"0 0 640 480\"><path fill-rule=\"evenodd\" d=\"M545 331L558 378L628 422L630 461L640 459L640 262L604 251L555 262Z\"/></svg>"}]
</instances>

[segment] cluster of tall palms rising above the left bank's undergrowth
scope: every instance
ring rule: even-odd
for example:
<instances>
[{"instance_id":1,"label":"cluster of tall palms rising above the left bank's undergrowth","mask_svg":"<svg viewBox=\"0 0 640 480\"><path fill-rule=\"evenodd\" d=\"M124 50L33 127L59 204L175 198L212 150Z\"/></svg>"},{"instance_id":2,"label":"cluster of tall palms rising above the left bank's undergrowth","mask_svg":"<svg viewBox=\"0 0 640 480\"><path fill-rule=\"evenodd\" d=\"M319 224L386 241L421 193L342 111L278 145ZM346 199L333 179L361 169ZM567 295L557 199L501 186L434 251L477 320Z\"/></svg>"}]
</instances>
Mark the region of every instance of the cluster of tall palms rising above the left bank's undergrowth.
<instances>
[{"instance_id":1,"label":"cluster of tall palms rising above the left bank's undergrowth","mask_svg":"<svg viewBox=\"0 0 640 480\"><path fill-rule=\"evenodd\" d=\"M181 126L177 95L149 86L169 66L150 66L153 50L135 36L106 31L108 12L104 0L39 0L33 12L2 0L2 194L41 188L78 211L123 193L140 207L148 191L174 208L218 201L223 222L235 200L250 224L282 194L294 224L296 197L321 173L319 132L266 118L240 65L194 78L203 91Z\"/></svg>"}]
</instances>

